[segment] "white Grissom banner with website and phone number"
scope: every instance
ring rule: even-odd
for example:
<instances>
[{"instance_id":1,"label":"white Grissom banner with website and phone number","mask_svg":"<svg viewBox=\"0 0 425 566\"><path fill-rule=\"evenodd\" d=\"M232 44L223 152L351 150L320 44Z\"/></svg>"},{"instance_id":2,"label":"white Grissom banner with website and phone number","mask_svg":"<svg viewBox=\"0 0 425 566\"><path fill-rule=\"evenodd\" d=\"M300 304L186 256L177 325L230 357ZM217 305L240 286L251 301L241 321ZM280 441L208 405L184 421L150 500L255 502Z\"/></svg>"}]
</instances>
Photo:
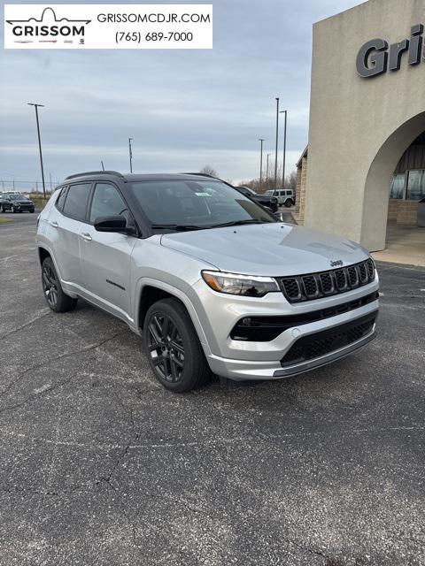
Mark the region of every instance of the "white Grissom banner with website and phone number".
<instances>
[{"instance_id":1,"label":"white Grissom banner with website and phone number","mask_svg":"<svg viewBox=\"0 0 425 566\"><path fill-rule=\"evenodd\" d=\"M213 48L213 4L5 4L5 49Z\"/></svg>"}]
</instances>

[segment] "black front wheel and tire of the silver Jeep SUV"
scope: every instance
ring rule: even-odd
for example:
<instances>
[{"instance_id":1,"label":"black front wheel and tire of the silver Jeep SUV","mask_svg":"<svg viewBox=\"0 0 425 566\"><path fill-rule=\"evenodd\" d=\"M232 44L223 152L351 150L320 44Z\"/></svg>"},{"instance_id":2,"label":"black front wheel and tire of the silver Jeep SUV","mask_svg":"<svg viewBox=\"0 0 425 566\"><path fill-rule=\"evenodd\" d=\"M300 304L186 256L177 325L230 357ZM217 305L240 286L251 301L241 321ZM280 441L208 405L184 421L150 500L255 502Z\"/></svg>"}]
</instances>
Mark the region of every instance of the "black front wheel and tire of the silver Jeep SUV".
<instances>
[{"instance_id":1,"label":"black front wheel and tire of the silver Jeep SUV","mask_svg":"<svg viewBox=\"0 0 425 566\"><path fill-rule=\"evenodd\" d=\"M155 377L170 391L196 389L211 377L188 311L176 299L151 305L144 318L143 345Z\"/></svg>"}]
</instances>

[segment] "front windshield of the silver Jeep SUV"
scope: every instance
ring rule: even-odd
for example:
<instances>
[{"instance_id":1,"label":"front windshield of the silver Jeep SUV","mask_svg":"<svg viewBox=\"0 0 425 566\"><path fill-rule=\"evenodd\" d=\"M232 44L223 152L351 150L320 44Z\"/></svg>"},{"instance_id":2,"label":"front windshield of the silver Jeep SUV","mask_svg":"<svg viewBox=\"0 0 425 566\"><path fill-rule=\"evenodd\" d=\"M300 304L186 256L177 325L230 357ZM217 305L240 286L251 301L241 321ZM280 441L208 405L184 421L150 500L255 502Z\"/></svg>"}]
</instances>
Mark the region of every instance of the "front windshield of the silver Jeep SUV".
<instances>
[{"instance_id":1,"label":"front windshield of the silver Jeep SUV","mask_svg":"<svg viewBox=\"0 0 425 566\"><path fill-rule=\"evenodd\" d=\"M217 180L147 180L132 183L131 190L152 227L178 230L276 221L267 210Z\"/></svg>"}]
</instances>

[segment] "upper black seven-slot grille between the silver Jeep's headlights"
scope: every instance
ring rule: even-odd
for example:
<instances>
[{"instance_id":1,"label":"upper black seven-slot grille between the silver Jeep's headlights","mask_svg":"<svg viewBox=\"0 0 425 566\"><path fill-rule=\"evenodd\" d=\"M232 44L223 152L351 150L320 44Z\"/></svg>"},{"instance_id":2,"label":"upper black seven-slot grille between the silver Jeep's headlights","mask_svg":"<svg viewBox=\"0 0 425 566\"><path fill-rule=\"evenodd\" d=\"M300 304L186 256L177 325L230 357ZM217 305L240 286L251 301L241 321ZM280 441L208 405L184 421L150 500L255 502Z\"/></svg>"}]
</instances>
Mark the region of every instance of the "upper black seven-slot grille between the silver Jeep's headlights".
<instances>
[{"instance_id":1,"label":"upper black seven-slot grille between the silver Jeep's headlights","mask_svg":"<svg viewBox=\"0 0 425 566\"><path fill-rule=\"evenodd\" d=\"M308 273L278 278L289 302L313 301L332 294L345 293L367 285L375 279L375 265L371 259L359 264L321 273Z\"/></svg>"}]
</instances>

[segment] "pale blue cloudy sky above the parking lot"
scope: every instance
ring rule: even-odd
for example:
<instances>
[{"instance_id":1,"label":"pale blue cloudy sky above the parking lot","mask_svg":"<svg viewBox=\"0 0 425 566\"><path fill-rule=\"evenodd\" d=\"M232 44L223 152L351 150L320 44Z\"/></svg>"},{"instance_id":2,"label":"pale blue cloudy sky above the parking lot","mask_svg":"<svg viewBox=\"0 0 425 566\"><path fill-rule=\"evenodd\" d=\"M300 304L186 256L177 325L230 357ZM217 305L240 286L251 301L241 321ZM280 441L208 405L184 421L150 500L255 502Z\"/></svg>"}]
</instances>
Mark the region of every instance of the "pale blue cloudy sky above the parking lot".
<instances>
[{"instance_id":1,"label":"pale blue cloudy sky above the parking lot","mask_svg":"<svg viewBox=\"0 0 425 566\"><path fill-rule=\"evenodd\" d=\"M288 173L308 140L312 25L357 4L216 0L213 50L2 48L0 181L6 189L12 180L17 189L41 187L27 102L45 105L48 187L50 175L56 184L100 169L101 160L106 169L128 172L128 137L134 172L195 172L209 164L226 180L258 177L260 137L265 161L267 153L270 164L274 159L275 96L288 110Z\"/></svg>"}]
</instances>

